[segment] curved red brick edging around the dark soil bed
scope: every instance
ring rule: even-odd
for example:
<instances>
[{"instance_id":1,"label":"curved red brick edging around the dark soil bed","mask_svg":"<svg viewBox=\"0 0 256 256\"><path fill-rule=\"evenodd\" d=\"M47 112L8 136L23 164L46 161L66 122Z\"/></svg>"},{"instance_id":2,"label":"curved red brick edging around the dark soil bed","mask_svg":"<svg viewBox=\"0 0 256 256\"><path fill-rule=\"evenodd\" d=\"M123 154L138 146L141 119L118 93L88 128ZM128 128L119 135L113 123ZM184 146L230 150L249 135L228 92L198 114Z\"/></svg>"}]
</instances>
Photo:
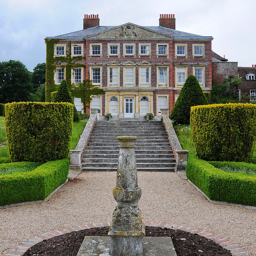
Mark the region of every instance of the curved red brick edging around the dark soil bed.
<instances>
[{"instance_id":1,"label":"curved red brick edging around the dark soil bed","mask_svg":"<svg viewBox=\"0 0 256 256\"><path fill-rule=\"evenodd\" d=\"M50 238L53 238L55 236L61 236L73 231L79 231L84 229L90 229L90 228L100 228L100 227L108 227L110 225L109 222L103 222L103 223L91 223L81 226L74 226L72 228L65 228L60 230L54 230L48 233L45 233L43 235L35 236L25 242L22 242L18 244L17 246L10 249L4 256L22 256L26 251L34 246L35 244L47 240ZM157 223L157 222L150 222L146 221L145 226L149 227L160 227L160 228L169 228L169 229L179 229L183 231L190 232L192 234L198 234L200 236L204 236L205 238L211 239L212 241L215 241L215 243L220 244L222 247L224 247L227 250L230 250L233 256L250 256L249 253L247 253L243 248L238 246L237 244L229 241L228 239L225 239L224 237L209 233L204 230L198 230L194 228L189 228L186 226L179 226L176 224L166 224L166 223Z\"/></svg>"}]
</instances>

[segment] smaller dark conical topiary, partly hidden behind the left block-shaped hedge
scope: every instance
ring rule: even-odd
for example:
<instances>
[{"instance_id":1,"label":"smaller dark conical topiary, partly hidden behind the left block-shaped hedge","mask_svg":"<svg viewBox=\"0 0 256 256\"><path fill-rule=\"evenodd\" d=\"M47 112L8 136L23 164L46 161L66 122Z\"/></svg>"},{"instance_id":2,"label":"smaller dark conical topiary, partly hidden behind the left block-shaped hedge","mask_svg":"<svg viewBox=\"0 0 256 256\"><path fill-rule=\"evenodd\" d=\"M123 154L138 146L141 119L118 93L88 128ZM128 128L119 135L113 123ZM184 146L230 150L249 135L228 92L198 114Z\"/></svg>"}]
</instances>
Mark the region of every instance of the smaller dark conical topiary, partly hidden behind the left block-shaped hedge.
<instances>
[{"instance_id":1,"label":"smaller dark conical topiary, partly hidden behind the left block-shaped hedge","mask_svg":"<svg viewBox=\"0 0 256 256\"><path fill-rule=\"evenodd\" d=\"M68 91L66 80L62 80L61 81L61 84L60 84L57 92L55 93L53 102L69 102L69 103L72 103L74 105L74 118L73 118L73 121L74 122L78 122L79 121L79 115L77 113L77 109L75 107L75 104L74 104L74 101L73 101L73 99L71 97L71 94Z\"/></svg>"}]
</instances>

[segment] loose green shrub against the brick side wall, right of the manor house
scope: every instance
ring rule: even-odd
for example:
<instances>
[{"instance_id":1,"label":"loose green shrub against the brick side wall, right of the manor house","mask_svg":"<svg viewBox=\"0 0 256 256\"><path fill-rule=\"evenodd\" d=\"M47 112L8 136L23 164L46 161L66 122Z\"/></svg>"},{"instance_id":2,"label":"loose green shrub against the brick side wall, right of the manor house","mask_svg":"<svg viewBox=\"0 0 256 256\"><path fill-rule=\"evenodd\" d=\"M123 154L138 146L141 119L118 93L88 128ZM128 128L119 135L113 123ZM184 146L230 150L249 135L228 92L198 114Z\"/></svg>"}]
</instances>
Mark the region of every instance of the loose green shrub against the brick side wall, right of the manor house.
<instances>
[{"instance_id":1,"label":"loose green shrub against the brick side wall, right of the manor house","mask_svg":"<svg viewBox=\"0 0 256 256\"><path fill-rule=\"evenodd\" d=\"M242 78L229 76L223 83L217 84L213 79L211 102L212 103L238 103L237 87Z\"/></svg>"}]
</instances>

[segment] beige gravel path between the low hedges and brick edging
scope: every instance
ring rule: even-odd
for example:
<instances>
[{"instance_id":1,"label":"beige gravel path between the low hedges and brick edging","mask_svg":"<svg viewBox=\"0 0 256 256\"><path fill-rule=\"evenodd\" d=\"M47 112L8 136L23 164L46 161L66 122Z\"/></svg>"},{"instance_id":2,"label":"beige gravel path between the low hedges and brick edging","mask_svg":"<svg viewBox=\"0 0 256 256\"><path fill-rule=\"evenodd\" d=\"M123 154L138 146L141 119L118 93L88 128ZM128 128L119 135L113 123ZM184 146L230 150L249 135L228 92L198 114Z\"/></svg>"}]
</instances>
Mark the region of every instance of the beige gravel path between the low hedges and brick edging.
<instances>
[{"instance_id":1,"label":"beige gravel path between the low hedges and brick edging","mask_svg":"<svg viewBox=\"0 0 256 256\"><path fill-rule=\"evenodd\" d=\"M86 172L48 202L0 209L0 253L34 236L75 225L111 221L115 172ZM144 221L179 224L223 236L256 256L256 211L209 203L170 172L138 172Z\"/></svg>"}]
</instances>

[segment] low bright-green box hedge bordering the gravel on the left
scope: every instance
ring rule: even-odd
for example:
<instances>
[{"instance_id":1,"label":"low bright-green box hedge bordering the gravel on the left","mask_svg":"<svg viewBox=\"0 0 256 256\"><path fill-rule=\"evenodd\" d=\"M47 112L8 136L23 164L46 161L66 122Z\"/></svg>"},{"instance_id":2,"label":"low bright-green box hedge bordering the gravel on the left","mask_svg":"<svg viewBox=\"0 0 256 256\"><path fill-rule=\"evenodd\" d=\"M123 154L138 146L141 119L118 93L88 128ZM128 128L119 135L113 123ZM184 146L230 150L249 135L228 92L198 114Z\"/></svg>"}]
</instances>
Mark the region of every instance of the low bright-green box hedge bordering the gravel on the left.
<instances>
[{"instance_id":1,"label":"low bright-green box hedge bordering the gravel on the left","mask_svg":"<svg viewBox=\"0 0 256 256\"><path fill-rule=\"evenodd\" d=\"M69 164L68 159L62 159L47 162L31 172L1 175L0 206L44 200L66 181Z\"/></svg>"}]
</instances>

